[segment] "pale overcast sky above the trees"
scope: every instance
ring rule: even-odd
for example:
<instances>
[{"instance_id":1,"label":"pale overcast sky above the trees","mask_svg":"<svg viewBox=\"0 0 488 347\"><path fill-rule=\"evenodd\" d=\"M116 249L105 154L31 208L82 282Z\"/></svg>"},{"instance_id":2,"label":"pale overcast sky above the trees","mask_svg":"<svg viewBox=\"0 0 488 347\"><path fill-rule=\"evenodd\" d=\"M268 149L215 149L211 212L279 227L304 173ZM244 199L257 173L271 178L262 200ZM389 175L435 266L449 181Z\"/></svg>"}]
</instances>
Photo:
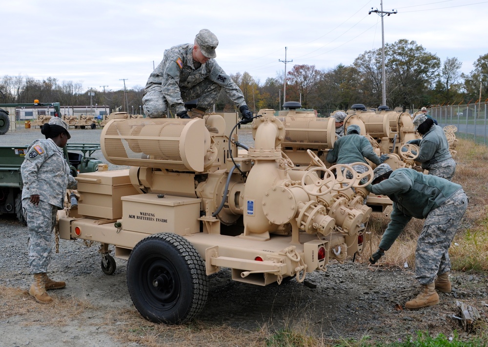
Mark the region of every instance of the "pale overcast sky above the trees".
<instances>
[{"instance_id":1,"label":"pale overcast sky above the trees","mask_svg":"<svg viewBox=\"0 0 488 347\"><path fill-rule=\"evenodd\" d=\"M202 28L227 74L264 83L295 64L329 70L381 48L380 0L3 0L0 77L53 77L83 89L144 86L165 49ZM384 0L385 43L417 41L462 71L488 53L488 1ZM282 61L280 61L282 60Z\"/></svg>"}]
</instances>

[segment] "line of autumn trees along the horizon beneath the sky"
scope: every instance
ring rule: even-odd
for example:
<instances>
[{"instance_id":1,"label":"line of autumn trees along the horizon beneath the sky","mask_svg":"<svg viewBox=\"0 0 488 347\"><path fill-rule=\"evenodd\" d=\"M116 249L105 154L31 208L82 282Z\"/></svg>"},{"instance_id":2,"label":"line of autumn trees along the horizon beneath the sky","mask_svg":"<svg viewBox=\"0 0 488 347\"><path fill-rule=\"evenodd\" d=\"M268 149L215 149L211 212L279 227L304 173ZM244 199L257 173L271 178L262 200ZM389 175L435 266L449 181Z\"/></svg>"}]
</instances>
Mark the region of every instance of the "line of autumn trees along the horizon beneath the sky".
<instances>
[{"instance_id":1,"label":"line of autumn trees along the horizon beneath the sky","mask_svg":"<svg viewBox=\"0 0 488 347\"><path fill-rule=\"evenodd\" d=\"M304 108L327 114L348 109L354 103L377 107L382 101L381 49L360 54L351 65L339 64L329 70L315 65L294 65L286 74L286 101L301 101ZM441 61L416 41L398 40L385 45L386 104L391 108L417 109L433 104L476 102L488 98L488 54L480 56L469 74L461 73L462 63L455 57ZM244 72L231 75L254 112L261 108L280 109L283 104L284 75L267 78L264 83ZM3 76L0 103L60 102L61 105L90 104L89 92L81 83L59 82L49 77L39 81L29 77ZM139 113L143 87L124 90L95 90L93 105L108 105L111 110ZM281 94L281 98L280 98ZM126 109L127 108L127 109ZM221 93L217 111L234 110Z\"/></svg>"}]
</instances>

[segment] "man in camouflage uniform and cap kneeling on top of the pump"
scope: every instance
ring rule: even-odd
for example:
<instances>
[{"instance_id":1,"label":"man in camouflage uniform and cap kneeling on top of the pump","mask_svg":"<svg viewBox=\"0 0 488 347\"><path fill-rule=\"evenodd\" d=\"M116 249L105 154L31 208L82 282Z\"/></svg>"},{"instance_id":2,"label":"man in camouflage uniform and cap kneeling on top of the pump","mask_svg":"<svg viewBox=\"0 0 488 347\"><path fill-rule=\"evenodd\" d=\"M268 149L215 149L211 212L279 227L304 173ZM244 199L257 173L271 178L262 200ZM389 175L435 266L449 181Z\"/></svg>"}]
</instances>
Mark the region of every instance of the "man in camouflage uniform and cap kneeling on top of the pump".
<instances>
[{"instance_id":1,"label":"man in camouflage uniform and cap kneeling on top of the pump","mask_svg":"<svg viewBox=\"0 0 488 347\"><path fill-rule=\"evenodd\" d=\"M252 121L241 89L217 64L215 48L217 37L202 29L194 43L180 44L164 51L163 61L147 80L142 104L150 118L166 118L169 107L174 107L180 118L190 118L184 102L198 99L192 118L202 118L218 99L221 90L239 107L243 124Z\"/></svg>"}]
</instances>

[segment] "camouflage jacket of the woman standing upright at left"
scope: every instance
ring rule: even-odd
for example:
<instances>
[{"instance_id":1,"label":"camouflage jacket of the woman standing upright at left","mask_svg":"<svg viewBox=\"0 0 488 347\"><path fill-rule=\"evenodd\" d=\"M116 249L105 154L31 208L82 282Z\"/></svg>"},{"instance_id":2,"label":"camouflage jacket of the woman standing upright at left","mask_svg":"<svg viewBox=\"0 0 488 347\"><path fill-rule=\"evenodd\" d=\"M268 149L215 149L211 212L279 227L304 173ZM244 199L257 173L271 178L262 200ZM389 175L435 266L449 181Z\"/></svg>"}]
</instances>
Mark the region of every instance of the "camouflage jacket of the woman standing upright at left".
<instances>
[{"instance_id":1,"label":"camouflage jacket of the woman standing upright at left","mask_svg":"<svg viewBox=\"0 0 488 347\"><path fill-rule=\"evenodd\" d=\"M29 145L20 173L24 185L22 199L39 195L42 201L63 208L66 188L77 187L62 149L51 139L36 140Z\"/></svg>"}]
</instances>

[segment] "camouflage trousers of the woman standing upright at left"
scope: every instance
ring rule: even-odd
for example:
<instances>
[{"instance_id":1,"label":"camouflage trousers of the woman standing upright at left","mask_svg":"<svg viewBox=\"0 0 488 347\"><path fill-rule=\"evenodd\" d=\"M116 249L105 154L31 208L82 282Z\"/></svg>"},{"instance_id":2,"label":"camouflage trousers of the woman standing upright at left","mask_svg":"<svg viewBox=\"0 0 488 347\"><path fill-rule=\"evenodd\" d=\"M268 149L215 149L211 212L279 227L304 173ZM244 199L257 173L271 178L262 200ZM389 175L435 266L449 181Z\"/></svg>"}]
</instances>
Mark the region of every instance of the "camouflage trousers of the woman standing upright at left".
<instances>
[{"instance_id":1,"label":"camouflage trousers of the woman standing upright at left","mask_svg":"<svg viewBox=\"0 0 488 347\"><path fill-rule=\"evenodd\" d=\"M36 206L31 204L30 198L26 198L22 200L22 208L29 229L27 250L30 272L47 272L47 266L51 261L51 234L56 225L58 206L42 200Z\"/></svg>"}]
</instances>

